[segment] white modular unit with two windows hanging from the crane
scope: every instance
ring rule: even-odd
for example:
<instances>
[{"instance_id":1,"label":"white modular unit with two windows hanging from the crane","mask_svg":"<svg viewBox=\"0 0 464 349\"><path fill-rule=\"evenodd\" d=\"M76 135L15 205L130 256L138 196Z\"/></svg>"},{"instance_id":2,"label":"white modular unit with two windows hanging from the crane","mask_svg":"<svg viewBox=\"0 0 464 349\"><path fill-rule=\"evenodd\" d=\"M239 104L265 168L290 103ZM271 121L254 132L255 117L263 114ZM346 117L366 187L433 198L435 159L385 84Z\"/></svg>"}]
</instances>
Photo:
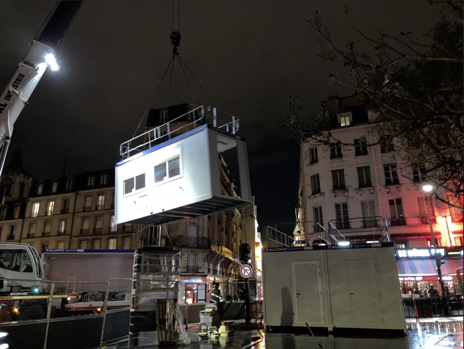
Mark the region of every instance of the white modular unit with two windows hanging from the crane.
<instances>
[{"instance_id":1,"label":"white modular unit with two windows hanging from the crane","mask_svg":"<svg viewBox=\"0 0 464 349\"><path fill-rule=\"evenodd\" d=\"M240 197L221 192L218 153L236 149ZM161 225L251 203L245 140L205 124L116 163L116 224Z\"/></svg>"}]
</instances>

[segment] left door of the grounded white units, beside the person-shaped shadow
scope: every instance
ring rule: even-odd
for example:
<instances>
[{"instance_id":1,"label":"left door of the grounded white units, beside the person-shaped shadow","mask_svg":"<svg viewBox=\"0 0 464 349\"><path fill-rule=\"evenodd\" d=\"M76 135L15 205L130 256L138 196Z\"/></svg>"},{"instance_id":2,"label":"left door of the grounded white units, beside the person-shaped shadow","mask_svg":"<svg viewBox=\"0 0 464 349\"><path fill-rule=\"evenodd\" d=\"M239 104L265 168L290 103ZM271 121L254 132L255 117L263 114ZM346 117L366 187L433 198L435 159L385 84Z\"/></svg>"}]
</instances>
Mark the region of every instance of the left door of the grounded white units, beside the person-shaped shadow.
<instances>
[{"instance_id":1,"label":"left door of the grounded white units, beside the person-shaped shadow","mask_svg":"<svg viewBox=\"0 0 464 349\"><path fill-rule=\"evenodd\" d=\"M322 323L322 288L319 262L293 262L295 322Z\"/></svg>"}]
</instances>

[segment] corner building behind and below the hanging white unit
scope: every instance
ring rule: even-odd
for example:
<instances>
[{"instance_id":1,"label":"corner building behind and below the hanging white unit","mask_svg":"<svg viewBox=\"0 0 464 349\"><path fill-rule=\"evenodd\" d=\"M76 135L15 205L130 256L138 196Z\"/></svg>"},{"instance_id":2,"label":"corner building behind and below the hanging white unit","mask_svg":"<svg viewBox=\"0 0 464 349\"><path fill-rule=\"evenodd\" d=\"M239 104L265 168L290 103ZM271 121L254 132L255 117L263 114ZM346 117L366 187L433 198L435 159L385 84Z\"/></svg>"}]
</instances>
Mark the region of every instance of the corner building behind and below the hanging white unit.
<instances>
[{"instance_id":1,"label":"corner building behind and below the hanging white unit","mask_svg":"<svg viewBox=\"0 0 464 349\"><path fill-rule=\"evenodd\" d=\"M199 106L195 103L182 103L168 108L150 109L144 127L144 143L155 139L155 132L157 137L166 136L146 145L145 149L168 140L168 136L179 136L206 123L206 118L201 119L200 111L195 110ZM199 121L193 123L196 120ZM166 125L168 122L169 129ZM170 135L169 131L172 132ZM227 163L220 153L218 156L221 194L238 197L237 186ZM179 301L209 303L213 282L219 283L223 300L239 298L239 289L244 287L244 279L239 274L242 263L238 258L238 246L245 243L245 240L253 246L251 264L255 272L250 280L251 296L259 299L261 271L257 269L257 265L260 263L261 250L256 246L261 246L261 242L257 232L254 204L164 226L146 226L143 228L141 245L174 246L179 249ZM258 257L256 250L259 250Z\"/></svg>"}]
</instances>

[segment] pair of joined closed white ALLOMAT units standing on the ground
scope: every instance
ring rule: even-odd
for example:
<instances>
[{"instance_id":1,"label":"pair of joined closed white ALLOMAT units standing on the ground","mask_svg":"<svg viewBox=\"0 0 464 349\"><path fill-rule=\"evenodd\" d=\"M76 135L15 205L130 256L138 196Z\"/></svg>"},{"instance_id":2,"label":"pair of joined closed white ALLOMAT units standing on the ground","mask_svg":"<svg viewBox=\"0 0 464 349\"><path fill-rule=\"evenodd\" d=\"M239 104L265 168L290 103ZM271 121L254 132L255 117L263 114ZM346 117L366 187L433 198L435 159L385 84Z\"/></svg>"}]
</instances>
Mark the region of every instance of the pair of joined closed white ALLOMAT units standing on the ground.
<instances>
[{"instance_id":1,"label":"pair of joined closed white ALLOMAT units standing on the ground","mask_svg":"<svg viewBox=\"0 0 464 349\"><path fill-rule=\"evenodd\" d=\"M265 326L406 333L391 242L264 248L263 273Z\"/></svg>"}]
</instances>

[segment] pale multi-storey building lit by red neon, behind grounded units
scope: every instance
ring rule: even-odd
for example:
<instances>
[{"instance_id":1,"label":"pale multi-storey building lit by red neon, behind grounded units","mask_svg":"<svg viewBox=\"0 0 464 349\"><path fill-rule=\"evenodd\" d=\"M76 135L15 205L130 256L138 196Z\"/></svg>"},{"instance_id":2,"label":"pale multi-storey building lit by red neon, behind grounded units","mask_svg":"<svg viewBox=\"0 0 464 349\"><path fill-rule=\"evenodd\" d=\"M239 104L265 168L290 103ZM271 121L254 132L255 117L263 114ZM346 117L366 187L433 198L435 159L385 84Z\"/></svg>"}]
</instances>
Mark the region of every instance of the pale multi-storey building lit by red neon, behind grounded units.
<instances>
[{"instance_id":1,"label":"pale multi-storey building lit by red neon, behind grounded units","mask_svg":"<svg viewBox=\"0 0 464 349\"><path fill-rule=\"evenodd\" d=\"M428 211L437 245L462 246L463 210L423 190L425 169L401 162L388 144L363 146L363 136L376 141L376 114L362 97L329 98L328 106L333 137L359 145L301 145L296 218L305 223L297 224L297 239L311 245L389 239L399 248L427 247L432 245ZM462 196L459 202L462 207Z\"/></svg>"}]
</instances>

